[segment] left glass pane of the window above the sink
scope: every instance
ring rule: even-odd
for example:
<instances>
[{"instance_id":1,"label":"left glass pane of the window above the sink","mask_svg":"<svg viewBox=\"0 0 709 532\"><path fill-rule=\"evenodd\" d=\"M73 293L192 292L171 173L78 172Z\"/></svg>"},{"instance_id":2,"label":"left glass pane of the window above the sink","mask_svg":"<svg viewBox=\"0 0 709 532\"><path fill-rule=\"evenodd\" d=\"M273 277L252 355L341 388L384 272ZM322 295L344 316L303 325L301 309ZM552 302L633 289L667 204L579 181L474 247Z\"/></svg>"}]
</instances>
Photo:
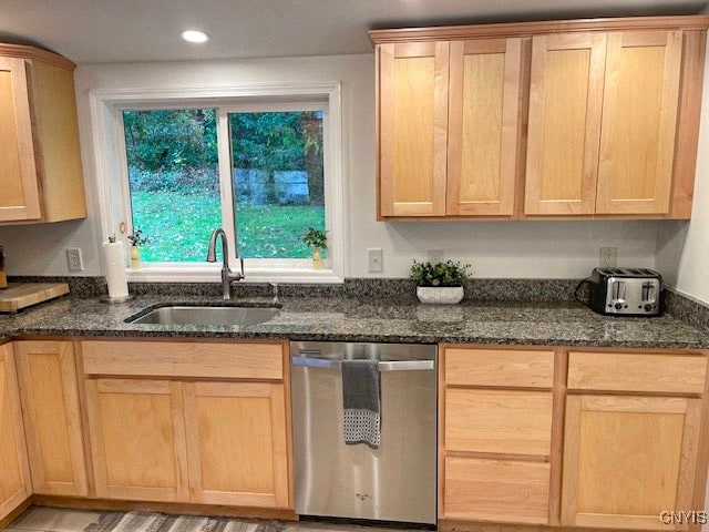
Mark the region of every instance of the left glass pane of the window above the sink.
<instances>
[{"instance_id":1,"label":"left glass pane of the window above the sink","mask_svg":"<svg viewBox=\"0 0 709 532\"><path fill-rule=\"evenodd\" d=\"M133 227L144 262L204 262L222 225L213 109L124 111Z\"/></svg>"}]
</instances>

